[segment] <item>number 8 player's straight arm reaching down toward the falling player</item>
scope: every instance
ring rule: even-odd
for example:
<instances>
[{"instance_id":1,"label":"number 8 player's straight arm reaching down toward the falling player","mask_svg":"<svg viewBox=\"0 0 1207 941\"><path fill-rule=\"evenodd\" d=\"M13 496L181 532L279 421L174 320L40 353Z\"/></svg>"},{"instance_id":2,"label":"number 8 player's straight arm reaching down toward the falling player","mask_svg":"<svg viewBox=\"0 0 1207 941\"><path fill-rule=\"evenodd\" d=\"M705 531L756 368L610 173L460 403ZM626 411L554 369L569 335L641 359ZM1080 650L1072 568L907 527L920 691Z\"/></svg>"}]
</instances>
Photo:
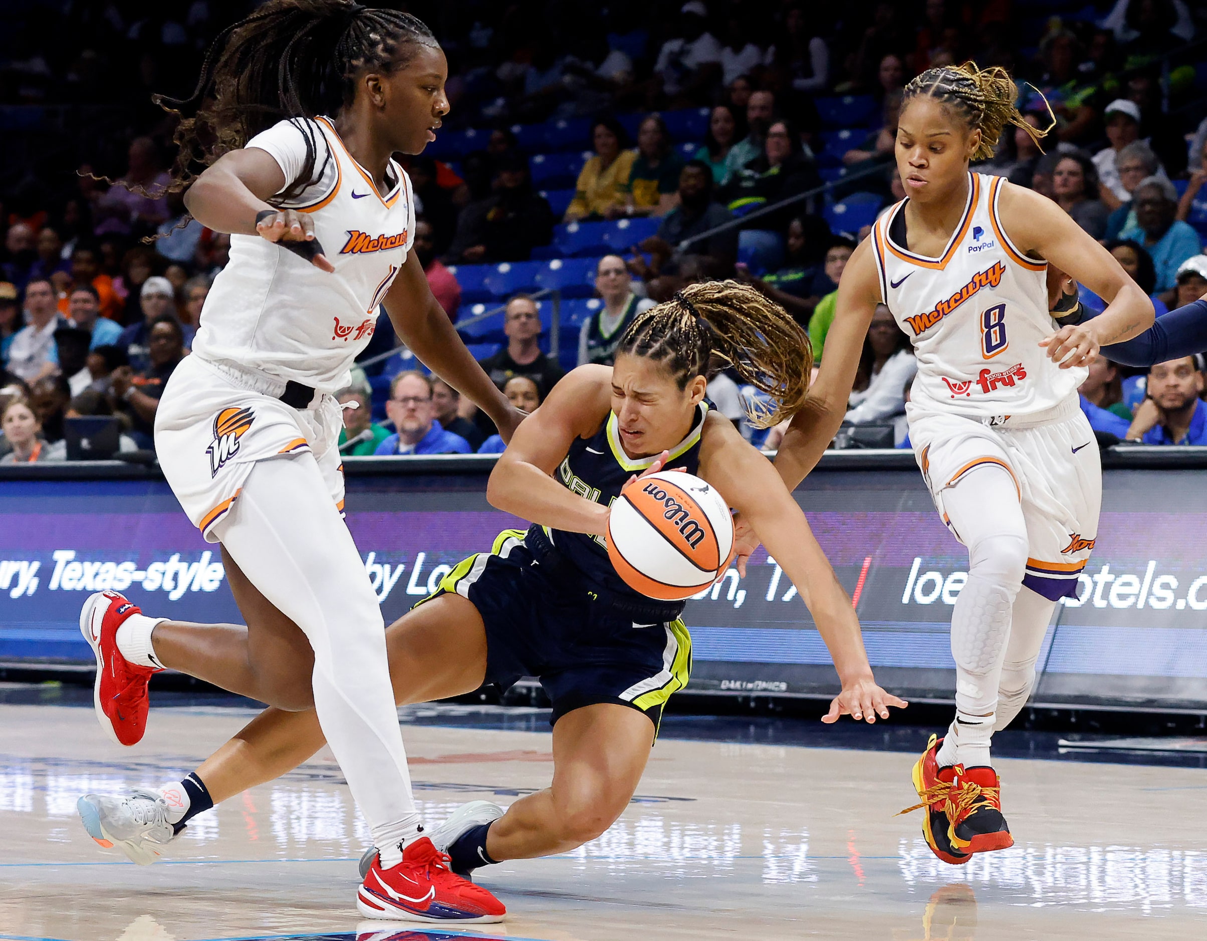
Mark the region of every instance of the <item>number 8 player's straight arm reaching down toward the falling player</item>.
<instances>
[{"instance_id":1,"label":"number 8 player's straight arm reaching down toward the falling player","mask_svg":"<svg viewBox=\"0 0 1207 941\"><path fill-rule=\"evenodd\" d=\"M846 263L838 286L834 322L826 334L826 356L804 408L792 419L775 456L788 491L817 466L846 415L868 325L880 303L871 239L864 239ZM756 527L756 531L758 527ZM762 533L760 533L762 534Z\"/></svg>"}]
</instances>

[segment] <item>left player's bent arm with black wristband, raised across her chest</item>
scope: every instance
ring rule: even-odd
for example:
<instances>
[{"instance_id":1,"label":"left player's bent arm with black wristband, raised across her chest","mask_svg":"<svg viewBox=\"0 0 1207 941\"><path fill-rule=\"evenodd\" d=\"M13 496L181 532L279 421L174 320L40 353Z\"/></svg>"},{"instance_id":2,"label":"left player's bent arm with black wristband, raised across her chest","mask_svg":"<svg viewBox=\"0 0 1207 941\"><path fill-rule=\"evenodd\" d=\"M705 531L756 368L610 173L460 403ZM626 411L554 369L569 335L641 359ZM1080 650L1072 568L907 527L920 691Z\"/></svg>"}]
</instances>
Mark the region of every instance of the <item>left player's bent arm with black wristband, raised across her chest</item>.
<instances>
[{"instance_id":1,"label":"left player's bent arm with black wristband, raised across her chest","mask_svg":"<svg viewBox=\"0 0 1207 941\"><path fill-rule=\"evenodd\" d=\"M314 241L314 220L308 214L276 209L266 201L286 182L275 157L258 147L245 147L223 153L205 168L185 193L185 208L215 232L280 242ZM261 217L263 212L272 215ZM323 271L336 270L322 253L310 262Z\"/></svg>"}]
</instances>

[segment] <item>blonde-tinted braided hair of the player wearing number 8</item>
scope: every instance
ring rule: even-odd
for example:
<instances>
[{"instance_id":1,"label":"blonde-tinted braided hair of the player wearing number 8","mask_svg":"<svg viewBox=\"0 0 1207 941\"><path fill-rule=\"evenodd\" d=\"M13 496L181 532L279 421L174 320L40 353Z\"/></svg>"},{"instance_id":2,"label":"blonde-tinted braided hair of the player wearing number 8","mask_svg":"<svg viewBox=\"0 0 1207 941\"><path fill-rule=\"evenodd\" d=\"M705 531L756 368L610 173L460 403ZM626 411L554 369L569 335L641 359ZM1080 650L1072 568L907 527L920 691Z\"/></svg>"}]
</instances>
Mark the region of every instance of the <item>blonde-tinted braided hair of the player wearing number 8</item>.
<instances>
[{"instance_id":1,"label":"blonde-tinted braided hair of the player wearing number 8","mask_svg":"<svg viewBox=\"0 0 1207 941\"><path fill-rule=\"evenodd\" d=\"M1040 139L1056 125L1056 117L1051 113L1050 105L1048 113L1053 123L1046 129L1033 128L1022 119L1022 113L1014 104L1019 97L1019 88L1001 65L978 69L976 63L966 62L963 65L927 69L905 86L902 110L905 110L911 98L920 97L933 98L947 105L963 118L969 130L980 130L981 140L972 156L973 160L987 160L993 156L1002 129L1008 124L1022 128L1036 146L1039 146ZM1046 99L1044 104L1048 104Z\"/></svg>"}]
</instances>

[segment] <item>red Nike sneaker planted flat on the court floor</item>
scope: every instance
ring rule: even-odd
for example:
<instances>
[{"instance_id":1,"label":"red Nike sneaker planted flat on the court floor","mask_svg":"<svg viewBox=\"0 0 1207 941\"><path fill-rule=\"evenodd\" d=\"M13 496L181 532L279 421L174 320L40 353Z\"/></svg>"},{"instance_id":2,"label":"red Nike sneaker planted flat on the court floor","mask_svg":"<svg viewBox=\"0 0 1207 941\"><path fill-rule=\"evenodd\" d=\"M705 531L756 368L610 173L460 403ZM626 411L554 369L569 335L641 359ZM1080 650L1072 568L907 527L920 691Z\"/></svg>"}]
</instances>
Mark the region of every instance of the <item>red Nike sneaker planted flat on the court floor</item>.
<instances>
[{"instance_id":1,"label":"red Nike sneaker planted flat on the court floor","mask_svg":"<svg viewBox=\"0 0 1207 941\"><path fill-rule=\"evenodd\" d=\"M474 886L449 869L426 836L402 853L402 863L381 869L380 858L356 893L356 907L366 918L403 922L501 922L507 908L482 886Z\"/></svg>"}]
</instances>

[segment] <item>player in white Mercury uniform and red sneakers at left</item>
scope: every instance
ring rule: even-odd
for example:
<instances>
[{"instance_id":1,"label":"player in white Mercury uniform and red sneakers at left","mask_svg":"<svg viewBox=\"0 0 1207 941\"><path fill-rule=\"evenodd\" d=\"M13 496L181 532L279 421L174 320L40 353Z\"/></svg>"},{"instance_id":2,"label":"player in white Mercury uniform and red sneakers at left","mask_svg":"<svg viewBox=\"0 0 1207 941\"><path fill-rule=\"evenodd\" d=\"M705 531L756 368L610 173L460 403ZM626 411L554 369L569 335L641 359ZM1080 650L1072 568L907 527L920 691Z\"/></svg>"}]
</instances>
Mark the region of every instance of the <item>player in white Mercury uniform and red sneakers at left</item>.
<instances>
[{"instance_id":1,"label":"player in white Mercury uniform and red sneakers at left","mask_svg":"<svg viewBox=\"0 0 1207 941\"><path fill-rule=\"evenodd\" d=\"M150 674L174 667L234 692L317 713L380 847L357 894L368 917L495 922L503 906L454 876L422 835L386 666L384 624L342 520L332 392L348 384L380 305L428 367L509 436L521 417L470 356L410 252L410 182L391 159L435 140L448 111L444 54L414 17L348 0L273 0L223 33L182 116L177 188L192 215L232 234L231 262L202 311L193 355L156 417L164 475L218 542L247 621L238 656L152 642L187 625L92 596L81 629L97 654L97 711L121 744L142 736ZM197 171L200 170L199 174ZM154 806L205 806L185 782ZM89 832L115 837L100 799ZM106 835L107 834L107 835Z\"/></svg>"}]
</instances>

